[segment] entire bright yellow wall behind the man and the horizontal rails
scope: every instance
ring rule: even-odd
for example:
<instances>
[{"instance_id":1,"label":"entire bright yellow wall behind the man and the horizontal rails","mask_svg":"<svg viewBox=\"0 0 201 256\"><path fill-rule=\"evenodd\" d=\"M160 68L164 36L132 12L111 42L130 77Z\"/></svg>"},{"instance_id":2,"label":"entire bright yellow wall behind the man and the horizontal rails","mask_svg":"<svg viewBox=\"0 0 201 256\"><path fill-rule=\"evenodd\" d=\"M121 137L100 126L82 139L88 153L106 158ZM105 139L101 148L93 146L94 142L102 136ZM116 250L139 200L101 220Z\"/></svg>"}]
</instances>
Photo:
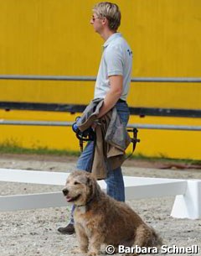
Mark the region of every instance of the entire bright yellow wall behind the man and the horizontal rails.
<instances>
[{"instance_id":1,"label":"entire bright yellow wall behind the man and the horizontal rails","mask_svg":"<svg viewBox=\"0 0 201 256\"><path fill-rule=\"evenodd\" d=\"M90 26L91 8L96 2L0 1L0 73L96 76L103 44ZM134 52L133 77L201 77L199 0L119 0L116 3L121 7L121 33ZM88 103L93 97L93 87L93 82L0 81L0 101ZM132 83L128 103L132 107L200 109L200 99L198 83ZM67 121L75 117L67 113L0 111L0 118ZM200 119L132 117L130 123L200 125ZM0 142L12 137L28 147L71 149L74 139L70 128L0 126L0 133ZM142 154L201 159L198 132L141 130L139 135L143 138L138 147ZM64 138L68 139L64 141ZM197 143L193 144L194 141Z\"/></svg>"}]
</instances>

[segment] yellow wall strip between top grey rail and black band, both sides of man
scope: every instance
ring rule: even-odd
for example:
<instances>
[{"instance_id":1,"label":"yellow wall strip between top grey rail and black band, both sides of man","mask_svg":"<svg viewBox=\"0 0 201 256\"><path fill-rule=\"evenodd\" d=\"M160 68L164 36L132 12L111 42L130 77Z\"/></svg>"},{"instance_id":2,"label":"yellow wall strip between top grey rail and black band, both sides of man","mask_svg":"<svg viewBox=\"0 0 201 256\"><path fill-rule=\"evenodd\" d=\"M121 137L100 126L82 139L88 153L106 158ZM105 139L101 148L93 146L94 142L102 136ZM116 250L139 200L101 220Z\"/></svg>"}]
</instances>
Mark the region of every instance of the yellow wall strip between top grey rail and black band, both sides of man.
<instances>
[{"instance_id":1,"label":"yellow wall strip between top grey rail and black band, both sides of man","mask_svg":"<svg viewBox=\"0 0 201 256\"><path fill-rule=\"evenodd\" d=\"M0 101L88 104L94 96L93 81L3 81ZM131 83L130 107L201 109L200 84Z\"/></svg>"}]
</instances>

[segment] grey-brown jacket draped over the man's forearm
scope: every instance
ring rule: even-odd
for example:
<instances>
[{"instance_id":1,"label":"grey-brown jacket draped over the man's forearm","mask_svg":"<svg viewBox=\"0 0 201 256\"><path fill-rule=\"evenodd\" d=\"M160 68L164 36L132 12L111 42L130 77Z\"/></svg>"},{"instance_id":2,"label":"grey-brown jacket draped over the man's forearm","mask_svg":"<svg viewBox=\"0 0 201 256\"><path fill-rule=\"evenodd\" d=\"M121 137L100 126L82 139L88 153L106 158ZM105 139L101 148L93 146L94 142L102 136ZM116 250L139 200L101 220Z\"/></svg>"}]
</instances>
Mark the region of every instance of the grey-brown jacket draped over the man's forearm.
<instances>
[{"instance_id":1,"label":"grey-brown jacket draped over the man's forearm","mask_svg":"<svg viewBox=\"0 0 201 256\"><path fill-rule=\"evenodd\" d=\"M97 98L85 108L77 126L81 132L89 128L100 112L103 99ZM131 143L126 127L121 123L116 107L98 119L95 127L95 154L91 172L97 180L106 179L107 170L115 170L124 162L125 150Z\"/></svg>"}]
</instances>

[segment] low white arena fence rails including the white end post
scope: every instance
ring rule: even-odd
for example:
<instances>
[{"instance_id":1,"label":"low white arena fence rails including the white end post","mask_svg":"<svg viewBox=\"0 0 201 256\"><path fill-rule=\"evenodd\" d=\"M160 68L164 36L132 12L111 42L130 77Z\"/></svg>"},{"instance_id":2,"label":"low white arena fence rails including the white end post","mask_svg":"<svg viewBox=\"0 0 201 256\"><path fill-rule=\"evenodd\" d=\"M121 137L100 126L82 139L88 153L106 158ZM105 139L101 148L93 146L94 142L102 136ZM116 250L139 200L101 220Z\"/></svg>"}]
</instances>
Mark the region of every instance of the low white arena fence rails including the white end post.
<instances>
[{"instance_id":1,"label":"low white arena fence rails including the white end post","mask_svg":"<svg viewBox=\"0 0 201 256\"><path fill-rule=\"evenodd\" d=\"M41 185L64 185L69 173L0 169L0 181ZM126 200L176 196L171 216L201 217L201 180L177 180L124 176ZM98 181L103 190L106 183ZM32 195L0 196L0 212L66 206L61 191Z\"/></svg>"}]
</instances>

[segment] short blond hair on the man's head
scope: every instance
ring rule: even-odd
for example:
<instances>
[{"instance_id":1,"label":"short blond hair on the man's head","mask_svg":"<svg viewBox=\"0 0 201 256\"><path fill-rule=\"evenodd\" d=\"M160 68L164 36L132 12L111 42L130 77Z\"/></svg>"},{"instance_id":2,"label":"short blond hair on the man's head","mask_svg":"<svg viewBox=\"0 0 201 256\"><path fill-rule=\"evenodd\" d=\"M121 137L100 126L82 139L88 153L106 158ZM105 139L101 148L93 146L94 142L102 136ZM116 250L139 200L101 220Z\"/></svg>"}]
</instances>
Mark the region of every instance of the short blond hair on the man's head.
<instances>
[{"instance_id":1,"label":"short blond hair on the man's head","mask_svg":"<svg viewBox=\"0 0 201 256\"><path fill-rule=\"evenodd\" d=\"M92 9L99 18L108 20L109 29L116 31L121 24L121 12L116 3L101 2Z\"/></svg>"}]
</instances>

